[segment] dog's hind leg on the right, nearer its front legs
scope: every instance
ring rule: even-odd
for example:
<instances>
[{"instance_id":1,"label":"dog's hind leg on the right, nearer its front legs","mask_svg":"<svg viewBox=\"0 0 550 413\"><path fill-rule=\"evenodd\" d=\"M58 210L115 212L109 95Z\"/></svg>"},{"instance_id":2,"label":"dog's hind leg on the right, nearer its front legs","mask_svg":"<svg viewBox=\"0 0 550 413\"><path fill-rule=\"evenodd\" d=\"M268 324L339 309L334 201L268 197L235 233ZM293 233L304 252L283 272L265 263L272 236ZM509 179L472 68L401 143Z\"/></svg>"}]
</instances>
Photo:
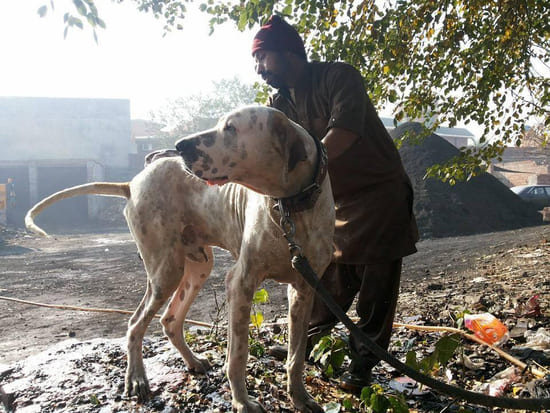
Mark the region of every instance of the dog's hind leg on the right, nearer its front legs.
<instances>
[{"instance_id":1,"label":"dog's hind leg on the right, nearer its front legs","mask_svg":"<svg viewBox=\"0 0 550 413\"><path fill-rule=\"evenodd\" d=\"M183 325L189 307L210 275L214 265L212 248L204 248L204 252L207 257L205 262L196 262L189 259L185 261L183 278L161 318L164 333L174 347L178 349L188 369L191 372L199 373L203 373L210 368L210 363L206 358L197 357L189 349L185 342Z\"/></svg>"}]
</instances>

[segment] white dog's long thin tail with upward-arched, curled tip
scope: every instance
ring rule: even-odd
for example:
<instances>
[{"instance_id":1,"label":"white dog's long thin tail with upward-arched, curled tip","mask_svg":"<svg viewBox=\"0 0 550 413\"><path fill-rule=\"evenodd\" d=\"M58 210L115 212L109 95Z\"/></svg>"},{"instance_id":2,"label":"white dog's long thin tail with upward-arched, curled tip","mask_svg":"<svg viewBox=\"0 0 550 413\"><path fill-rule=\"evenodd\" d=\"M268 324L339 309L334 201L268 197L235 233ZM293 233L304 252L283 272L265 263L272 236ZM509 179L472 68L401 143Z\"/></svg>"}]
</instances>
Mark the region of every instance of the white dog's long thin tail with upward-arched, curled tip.
<instances>
[{"instance_id":1,"label":"white dog's long thin tail with upward-arched, curled tip","mask_svg":"<svg viewBox=\"0 0 550 413\"><path fill-rule=\"evenodd\" d=\"M130 198L130 185L128 182L90 182L84 185L73 186L56 192L34 205L25 215L25 226L28 230L47 237L48 234L34 223L34 218L50 205L65 198L78 195L104 195Z\"/></svg>"}]
</instances>

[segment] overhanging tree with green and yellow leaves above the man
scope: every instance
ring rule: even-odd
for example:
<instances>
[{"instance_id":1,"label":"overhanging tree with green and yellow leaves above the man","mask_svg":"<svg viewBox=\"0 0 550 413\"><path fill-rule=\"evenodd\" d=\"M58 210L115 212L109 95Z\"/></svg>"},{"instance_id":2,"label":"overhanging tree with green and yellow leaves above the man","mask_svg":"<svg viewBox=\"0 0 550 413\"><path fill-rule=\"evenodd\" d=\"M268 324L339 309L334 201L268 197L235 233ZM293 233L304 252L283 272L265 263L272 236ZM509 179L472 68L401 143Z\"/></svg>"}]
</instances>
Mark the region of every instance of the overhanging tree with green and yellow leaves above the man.
<instances>
[{"instance_id":1,"label":"overhanging tree with green and yellow leaves above the man","mask_svg":"<svg viewBox=\"0 0 550 413\"><path fill-rule=\"evenodd\" d=\"M183 24L186 2L127 1L168 27ZM94 21L92 0L73 2ZM393 107L397 121L428 119L430 131L483 126L478 147L463 148L430 176L472 176L500 159L505 146L520 145L528 122L550 126L550 0L208 0L200 7L212 16L212 30L226 21L243 30L273 13L285 16L313 59L359 68L375 105Z\"/></svg>"}]
</instances>

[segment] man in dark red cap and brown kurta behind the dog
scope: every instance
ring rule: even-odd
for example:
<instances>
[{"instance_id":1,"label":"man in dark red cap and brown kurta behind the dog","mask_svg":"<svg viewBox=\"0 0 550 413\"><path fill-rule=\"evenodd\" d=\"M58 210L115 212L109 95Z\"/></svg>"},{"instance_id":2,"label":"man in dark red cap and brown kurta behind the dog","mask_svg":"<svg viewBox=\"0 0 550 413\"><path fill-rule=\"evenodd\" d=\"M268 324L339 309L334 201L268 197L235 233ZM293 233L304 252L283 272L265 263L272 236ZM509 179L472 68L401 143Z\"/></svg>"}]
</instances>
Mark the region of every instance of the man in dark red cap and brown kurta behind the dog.
<instances>
[{"instance_id":1,"label":"man in dark red cap and brown kurta behind the dog","mask_svg":"<svg viewBox=\"0 0 550 413\"><path fill-rule=\"evenodd\" d=\"M357 326L381 347L390 342L402 258L416 252L413 191L399 152L372 105L361 74L345 63L308 62L298 32L279 16L252 43L256 72L278 89L270 106L302 125L328 152L336 205L335 254L322 283L347 311L357 296ZM337 319L316 299L310 347ZM360 391L378 363L350 338L352 362L341 387ZM281 350L275 353L281 353Z\"/></svg>"}]
</instances>

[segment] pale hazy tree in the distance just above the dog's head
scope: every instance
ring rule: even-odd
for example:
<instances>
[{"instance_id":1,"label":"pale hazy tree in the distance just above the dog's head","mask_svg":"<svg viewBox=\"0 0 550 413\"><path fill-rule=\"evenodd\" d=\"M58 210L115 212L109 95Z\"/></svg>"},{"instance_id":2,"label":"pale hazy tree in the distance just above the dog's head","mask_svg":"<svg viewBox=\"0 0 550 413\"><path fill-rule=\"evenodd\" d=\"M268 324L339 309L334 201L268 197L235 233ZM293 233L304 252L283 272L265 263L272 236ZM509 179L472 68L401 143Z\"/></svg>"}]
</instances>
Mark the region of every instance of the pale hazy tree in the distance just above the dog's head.
<instances>
[{"instance_id":1,"label":"pale hazy tree in the distance just above the dog's head","mask_svg":"<svg viewBox=\"0 0 550 413\"><path fill-rule=\"evenodd\" d=\"M213 127L218 119L231 110L254 103L256 89L234 77L212 82L209 93L182 96L152 114L154 121L167 125L168 136L182 137ZM170 138L168 138L170 139ZM173 144L172 142L169 142Z\"/></svg>"}]
</instances>

